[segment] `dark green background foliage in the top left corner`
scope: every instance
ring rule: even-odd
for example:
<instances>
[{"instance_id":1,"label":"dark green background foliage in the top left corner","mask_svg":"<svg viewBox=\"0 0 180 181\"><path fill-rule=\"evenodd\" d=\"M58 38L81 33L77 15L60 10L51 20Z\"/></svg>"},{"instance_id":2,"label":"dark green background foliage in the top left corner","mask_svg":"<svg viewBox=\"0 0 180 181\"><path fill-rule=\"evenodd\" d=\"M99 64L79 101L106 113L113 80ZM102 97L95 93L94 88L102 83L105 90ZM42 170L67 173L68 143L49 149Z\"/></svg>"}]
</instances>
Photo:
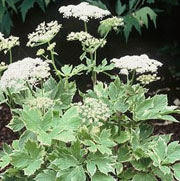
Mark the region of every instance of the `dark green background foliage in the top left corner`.
<instances>
[{"instance_id":1,"label":"dark green background foliage in the top left corner","mask_svg":"<svg viewBox=\"0 0 180 181\"><path fill-rule=\"evenodd\" d=\"M37 4L43 11L51 0L0 0L0 31L9 34L13 26L12 16L21 13L23 22L28 11ZM53 0L54 1L54 0Z\"/></svg>"}]
</instances>

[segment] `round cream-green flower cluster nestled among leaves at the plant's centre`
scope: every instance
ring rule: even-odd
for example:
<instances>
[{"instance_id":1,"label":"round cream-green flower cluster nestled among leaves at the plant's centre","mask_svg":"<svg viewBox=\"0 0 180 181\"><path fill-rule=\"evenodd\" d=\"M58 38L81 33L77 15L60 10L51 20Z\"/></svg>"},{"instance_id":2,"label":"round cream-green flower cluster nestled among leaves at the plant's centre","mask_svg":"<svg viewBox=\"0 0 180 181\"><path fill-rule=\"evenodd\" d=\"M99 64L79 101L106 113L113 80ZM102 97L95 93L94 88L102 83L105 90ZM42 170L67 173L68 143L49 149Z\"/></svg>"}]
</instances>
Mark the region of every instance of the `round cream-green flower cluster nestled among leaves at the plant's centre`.
<instances>
[{"instance_id":1,"label":"round cream-green flower cluster nestled among leaves at the plant's centre","mask_svg":"<svg viewBox=\"0 0 180 181\"><path fill-rule=\"evenodd\" d=\"M85 98L84 104L77 103L75 105L78 107L83 122L99 123L99 120L106 121L111 115L108 105L95 98Z\"/></svg>"}]
</instances>

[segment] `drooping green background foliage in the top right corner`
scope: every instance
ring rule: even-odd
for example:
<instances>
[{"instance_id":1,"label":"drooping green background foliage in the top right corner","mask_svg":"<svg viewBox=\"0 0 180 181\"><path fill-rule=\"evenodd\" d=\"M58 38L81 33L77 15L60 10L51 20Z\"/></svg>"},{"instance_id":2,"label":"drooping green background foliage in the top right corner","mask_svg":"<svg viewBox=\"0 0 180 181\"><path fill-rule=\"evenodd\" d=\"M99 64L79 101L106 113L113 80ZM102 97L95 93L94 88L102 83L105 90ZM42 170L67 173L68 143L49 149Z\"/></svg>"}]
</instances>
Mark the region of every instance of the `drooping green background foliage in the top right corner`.
<instances>
[{"instance_id":1,"label":"drooping green background foliage in the top right corner","mask_svg":"<svg viewBox=\"0 0 180 181\"><path fill-rule=\"evenodd\" d=\"M113 11L116 16L123 18L125 27L124 29L120 27L116 32L122 32L126 41L128 41L133 29L141 34L141 29L143 27L148 28L150 21L152 21L156 27L158 12L169 12L173 6L179 5L178 0L158 0L156 2L154 0L129 0L125 3L122 3L122 0L116 0L114 5L103 0L86 1L103 9L110 9L111 7L111 11ZM112 6L114 6L114 8L112 8ZM105 27L100 26L100 31L105 31L104 28Z\"/></svg>"}]
</instances>

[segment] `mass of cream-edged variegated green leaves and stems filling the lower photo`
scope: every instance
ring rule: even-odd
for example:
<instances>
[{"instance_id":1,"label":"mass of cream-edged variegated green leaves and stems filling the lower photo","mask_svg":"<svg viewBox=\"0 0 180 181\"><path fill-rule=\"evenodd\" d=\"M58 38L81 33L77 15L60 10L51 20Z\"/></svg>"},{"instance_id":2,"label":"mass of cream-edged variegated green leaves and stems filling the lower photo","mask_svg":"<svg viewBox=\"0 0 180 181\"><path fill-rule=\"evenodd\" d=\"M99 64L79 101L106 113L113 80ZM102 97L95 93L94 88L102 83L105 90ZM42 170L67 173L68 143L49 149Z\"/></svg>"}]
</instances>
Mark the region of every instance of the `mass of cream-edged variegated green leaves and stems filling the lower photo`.
<instances>
[{"instance_id":1,"label":"mass of cream-edged variegated green leaves and stems filling the lower photo","mask_svg":"<svg viewBox=\"0 0 180 181\"><path fill-rule=\"evenodd\" d=\"M136 70L122 81L109 73L113 63L104 59L97 65L96 54L103 46L93 40L95 44L82 46L82 64L60 70L54 62L55 44L42 41L47 49L38 54L52 65L56 80L37 79L16 91L0 84L0 103L8 104L12 112L8 127L20 135L0 152L2 181L180 180L179 142L170 142L171 135L153 135L149 122L178 122L171 114L180 110L168 106L166 95L147 97L148 90L134 81ZM85 93L71 80L83 73L91 74L93 82ZM111 83L98 81L100 73ZM74 103L78 92L82 101Z\"/></svg>"}]
</instances>

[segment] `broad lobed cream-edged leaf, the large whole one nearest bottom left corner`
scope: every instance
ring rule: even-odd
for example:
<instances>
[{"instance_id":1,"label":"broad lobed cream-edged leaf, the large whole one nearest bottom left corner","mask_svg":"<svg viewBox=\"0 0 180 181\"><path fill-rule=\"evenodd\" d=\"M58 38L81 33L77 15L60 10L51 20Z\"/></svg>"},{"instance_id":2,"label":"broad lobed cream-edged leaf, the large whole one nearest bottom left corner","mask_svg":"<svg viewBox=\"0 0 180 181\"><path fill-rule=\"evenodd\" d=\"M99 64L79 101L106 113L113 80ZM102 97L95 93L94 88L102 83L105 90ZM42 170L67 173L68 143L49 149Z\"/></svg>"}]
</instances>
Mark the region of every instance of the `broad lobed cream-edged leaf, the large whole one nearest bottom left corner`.
<instances>
[{"instance_id":1,"label":"broad lobed cream-edged leaf, the large whole one nearest bottom left corner","mask_svg":"<svg viewBox=\"0 0 180 181\"><path fill-rule=\"evenodd\" d=\"M43 164L45 152L36 142L28 140L23 150L12 154L12 165L24 170L25 175L33 175Z\"/></svg>"}]
</instances>

